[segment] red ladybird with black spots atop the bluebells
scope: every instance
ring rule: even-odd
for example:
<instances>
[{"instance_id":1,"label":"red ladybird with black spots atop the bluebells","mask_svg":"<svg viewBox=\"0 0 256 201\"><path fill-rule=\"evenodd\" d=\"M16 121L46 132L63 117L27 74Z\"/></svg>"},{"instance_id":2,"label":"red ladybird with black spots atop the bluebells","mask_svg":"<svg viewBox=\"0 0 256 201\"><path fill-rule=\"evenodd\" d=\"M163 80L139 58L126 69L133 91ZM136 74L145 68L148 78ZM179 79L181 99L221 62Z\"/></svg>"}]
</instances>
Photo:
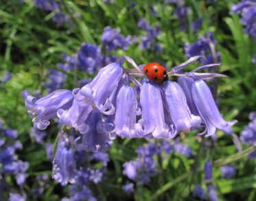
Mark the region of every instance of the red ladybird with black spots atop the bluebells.
<instances>
[{"instance_id":1,"label":"red ladybird with black spots atop the bluebells","mask_svg":"<svg viewBox=\"0 0 256 201\"><path fill-rule=\"evenodd\" d=\"M143 68L143 73L147 76L149 80L159 84L168 80L168 75L165 67L161 66L161 64L159 63L146 64Z\"/></svg>"}]
</instances>

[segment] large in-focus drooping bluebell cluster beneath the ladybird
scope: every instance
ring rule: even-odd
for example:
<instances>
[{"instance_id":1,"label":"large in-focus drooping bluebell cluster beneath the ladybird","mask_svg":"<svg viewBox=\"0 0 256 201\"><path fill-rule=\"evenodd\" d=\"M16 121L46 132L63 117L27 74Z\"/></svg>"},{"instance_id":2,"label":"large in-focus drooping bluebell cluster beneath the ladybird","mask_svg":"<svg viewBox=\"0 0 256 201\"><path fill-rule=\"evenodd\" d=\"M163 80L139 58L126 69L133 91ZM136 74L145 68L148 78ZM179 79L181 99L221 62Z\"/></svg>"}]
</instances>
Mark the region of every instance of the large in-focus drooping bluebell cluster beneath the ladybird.
<instances>
[{"instance_id":1,"label":"large in-focus drooping bluebell cluster beneath the ladybird","mask_svg":"<svg viewBox=\"0 0 256 201\"><path fill-rule=\"evenodd\" d=\"M72 140L60 134L54 158L54 178L62 185L75 182L79 172L75 170L75 150L104 152L110 147L115 135L170 139L180 132L202 127L205 127L205 131L201 134L206 134L206 137L213 135L216 128L232 132L231 126L235 121L224 121L209 87L200 80L222 75L196 72L216 64L198 67L189 73L182 71L198 58L200 56L191 58L169 72L170 75L181 76L178 82L156 84L144 79L140 83L133 77L134 73L141 75L140 67L126 57L135 69L123 69L121 61L113 62L100 69L96 77L82 88L75 88L72 92L57 90L40 99L28 96L25 106L33 118L35 128L44 130L49 126L49 120L58 116L59 123L76 131ZM138 92L130 85L130 81L137 84ZM167 150L191 156L189 147L178 141ZM153 174L153 161L150 165L153 165L150 170ZM91 175L89 179L99 181L99 172L91 171Z\"/></svg>"}]
</instances>

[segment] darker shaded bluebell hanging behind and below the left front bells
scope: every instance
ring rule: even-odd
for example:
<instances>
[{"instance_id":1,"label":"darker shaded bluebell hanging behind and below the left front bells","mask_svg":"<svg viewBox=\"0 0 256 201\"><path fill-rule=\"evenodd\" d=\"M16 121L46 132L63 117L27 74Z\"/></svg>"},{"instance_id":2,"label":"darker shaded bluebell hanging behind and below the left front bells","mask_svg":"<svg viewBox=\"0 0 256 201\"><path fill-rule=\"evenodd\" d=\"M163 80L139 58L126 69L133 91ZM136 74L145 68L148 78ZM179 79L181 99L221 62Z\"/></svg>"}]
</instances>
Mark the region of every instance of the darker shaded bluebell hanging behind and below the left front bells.
<instances>
[{"instance_id":1,"label":"darker shaded bluebell hanging behind and below the left front bells","mask_svg":"<svg viewBox=\"0 0 256 201\"><path fill-rule=\"evenodd\" d=\"M108 134L103 130L102 114L94 109L85 121L88 130L75 139L75 146L78 150L87 152L105 152L111 145Z\"/></svg>"}]
</instances>

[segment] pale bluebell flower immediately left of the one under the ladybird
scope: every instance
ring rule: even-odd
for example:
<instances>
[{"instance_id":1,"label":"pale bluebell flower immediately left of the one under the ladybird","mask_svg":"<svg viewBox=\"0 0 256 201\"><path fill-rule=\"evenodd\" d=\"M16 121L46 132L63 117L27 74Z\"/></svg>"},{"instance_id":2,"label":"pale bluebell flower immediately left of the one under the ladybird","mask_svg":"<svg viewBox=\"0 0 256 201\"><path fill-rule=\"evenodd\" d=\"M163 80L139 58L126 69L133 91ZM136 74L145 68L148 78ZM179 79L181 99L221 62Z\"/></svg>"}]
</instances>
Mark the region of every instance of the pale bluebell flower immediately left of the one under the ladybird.
<instances>
[{"instance_id":1,"label":"pale bluebell flower immediately left of the one under the ladybird","mask_svg":"<svg viewBox=\"0 0 256 201\"><path fill-rule=\"evenodd\" d=\"M137 110L137 96L135 90L125 84L117 95L115 113L115 132L120 137L136 137L135 123Z\"/></svg>"}]
</instances>

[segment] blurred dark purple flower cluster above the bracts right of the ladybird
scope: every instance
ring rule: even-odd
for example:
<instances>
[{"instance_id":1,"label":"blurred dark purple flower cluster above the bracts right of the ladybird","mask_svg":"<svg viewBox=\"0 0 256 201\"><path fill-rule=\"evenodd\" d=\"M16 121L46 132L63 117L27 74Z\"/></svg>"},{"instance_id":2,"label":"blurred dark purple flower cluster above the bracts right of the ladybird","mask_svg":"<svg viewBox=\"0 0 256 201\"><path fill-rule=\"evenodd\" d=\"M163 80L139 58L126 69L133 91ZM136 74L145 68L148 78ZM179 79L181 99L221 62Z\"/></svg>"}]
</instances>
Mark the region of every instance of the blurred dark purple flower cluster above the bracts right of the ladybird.
<instances>
[{"instance_id":1,"label":"blurred dark purple flower cluster above the bracts right of the ladybird","mask_svg":"<svg viewBox=\"0 0 256 201\"><path fill-rule=\"evenodd\" d=\"M202 64L213 64L220 62L220 53L216 51L217 40L213 38L213 33L208 32L205 36L201 36L192 45L185 44L185 54L187 58L192 56L204 56L206 59L201 59Z\"/></svg>"}]
</instances>

